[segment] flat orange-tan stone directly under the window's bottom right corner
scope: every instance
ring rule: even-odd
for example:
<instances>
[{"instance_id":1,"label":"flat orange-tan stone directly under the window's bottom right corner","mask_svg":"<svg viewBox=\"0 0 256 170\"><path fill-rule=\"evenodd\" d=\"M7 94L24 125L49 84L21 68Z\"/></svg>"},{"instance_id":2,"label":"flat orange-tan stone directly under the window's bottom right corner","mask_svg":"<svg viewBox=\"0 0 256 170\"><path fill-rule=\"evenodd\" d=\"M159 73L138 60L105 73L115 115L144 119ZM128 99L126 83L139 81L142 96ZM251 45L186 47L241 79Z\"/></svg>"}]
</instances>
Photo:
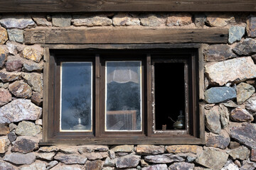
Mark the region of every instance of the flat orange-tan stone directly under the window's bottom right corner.
<instances>
[{"instance_id":1,"label":"flat orange-tan stone directly under the window's bottom right corner","mask_svg":"<svg viewBox=\"0 0 256 170\"><path fill-rule=\"evenodd\" d=\"M170 145L165 147L166 151L169 153L179 154L179 153L194 153L196 154L199 146L196 145Z\"/></svg>"}]
</instances>

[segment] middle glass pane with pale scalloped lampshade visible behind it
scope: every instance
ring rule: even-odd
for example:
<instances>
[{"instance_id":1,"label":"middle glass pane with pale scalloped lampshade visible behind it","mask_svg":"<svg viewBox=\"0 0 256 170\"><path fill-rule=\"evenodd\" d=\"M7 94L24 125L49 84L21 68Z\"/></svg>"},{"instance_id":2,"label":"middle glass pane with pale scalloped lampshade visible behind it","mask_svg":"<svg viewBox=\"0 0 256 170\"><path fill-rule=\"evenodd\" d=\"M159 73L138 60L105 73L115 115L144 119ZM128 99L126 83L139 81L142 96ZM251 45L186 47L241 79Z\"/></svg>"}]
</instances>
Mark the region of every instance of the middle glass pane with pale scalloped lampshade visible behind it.
<instances>
[{"instance_id":1,"label":"middle glass pane with pale scalloped lampshade visible behind it","mask_svg":"<svg viewBox=\"0 0 256 170\"><path fill-rule=\"evenodd\" d=\"M106 62L106 130L142 130L142 62Z\"/></svg>"}]
</instances>

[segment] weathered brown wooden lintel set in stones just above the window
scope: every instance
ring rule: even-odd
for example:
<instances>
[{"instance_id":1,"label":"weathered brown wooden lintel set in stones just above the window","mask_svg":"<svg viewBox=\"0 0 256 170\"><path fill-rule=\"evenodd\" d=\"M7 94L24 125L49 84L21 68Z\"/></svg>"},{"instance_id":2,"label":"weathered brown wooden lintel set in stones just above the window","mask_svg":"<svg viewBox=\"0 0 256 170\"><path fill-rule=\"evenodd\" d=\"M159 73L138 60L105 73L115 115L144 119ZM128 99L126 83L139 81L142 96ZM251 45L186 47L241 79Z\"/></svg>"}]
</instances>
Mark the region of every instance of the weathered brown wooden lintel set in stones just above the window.
<instances>
[{"instance_id":1,"label":"weathered brown wooden lintel set in stones just above the window","mask_svg":"<svg viewBox=\"0 0 256 170\"><path fill-rule=\"evenodd\" d=\"M32 28L26 44L227 43L227 28Z\"/></svg>"}]
</instances>

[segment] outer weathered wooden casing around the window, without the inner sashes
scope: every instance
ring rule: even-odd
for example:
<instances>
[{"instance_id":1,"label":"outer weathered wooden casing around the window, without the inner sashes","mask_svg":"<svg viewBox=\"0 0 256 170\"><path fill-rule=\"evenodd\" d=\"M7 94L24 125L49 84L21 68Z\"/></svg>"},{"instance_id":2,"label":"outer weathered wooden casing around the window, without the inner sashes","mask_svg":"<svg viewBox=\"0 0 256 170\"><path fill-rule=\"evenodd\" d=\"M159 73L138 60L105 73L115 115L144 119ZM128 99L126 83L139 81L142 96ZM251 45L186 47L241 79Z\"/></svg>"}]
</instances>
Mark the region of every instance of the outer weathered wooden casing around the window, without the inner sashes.
<instances>
[{"instance_id":1,"label":"outer weathered wooden casing around the window, without the inner sashes","mask_svg":"<svg viewBox=\"0 0 256 170\"><path fill-rule=\"evenodd\" d=\"M204 102L203 89L204 89L204 75L203 75L203 45L202 44L158 44L154 47L154 44L140 44L140 45L86 45L86 47L76 47L75 45L42 45L44 47L44 69L43 69L43 140L40 141L40 145L203 145L205 144L205 123L204 123ZM50 132L50 128L53 128L54 120L50 120L50 115L53 114L54 105L54 75L52 74L55 70L55 64L53 54L69 53L81 50L94 51L94 54L98 51L104 50L171 50L172 52L180 52L182 54L189 53L191 56L197 57L196 63L196 109L198 111L196 115L196 126L194 127L194 135L170 135L169 137L157 137L151 136L133 136L133 137L75 137L70 135L68 138L54 136L53 132ZM60 52L61 51L61 52ZM63 53L63 54L64 54ZM150 53L150 52L149 52ZM97 59L95 59L97 62ZM100 62L100 61L99 61ZM147 61L146 61L147 62ZM97 70L95 71L95 77L97 77ZM95 79L97 81L97 79ZM96 84L96 83L95 83ZM193 91L195 92L195 91ZM51 99L50 99L51 98ZM146 101L145 101L146 104ZM50 122L52 121L52 122ZM53 130L52 130L53 131Z\"/></svg>"}]
</instances>

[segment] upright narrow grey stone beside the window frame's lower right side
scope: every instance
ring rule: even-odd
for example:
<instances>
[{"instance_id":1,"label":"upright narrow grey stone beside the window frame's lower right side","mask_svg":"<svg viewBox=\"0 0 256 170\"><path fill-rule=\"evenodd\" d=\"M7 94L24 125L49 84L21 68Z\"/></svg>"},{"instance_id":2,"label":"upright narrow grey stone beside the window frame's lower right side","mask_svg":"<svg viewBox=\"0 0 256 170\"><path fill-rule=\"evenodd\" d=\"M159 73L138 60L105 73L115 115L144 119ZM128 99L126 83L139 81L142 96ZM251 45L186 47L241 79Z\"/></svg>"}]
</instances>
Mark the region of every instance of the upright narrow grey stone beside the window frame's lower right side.
<instances>
[{"instance_id":1,"label":"upright narrow grey stone beside the window frame's lower right side","mask_svg":"<svg viewBox=\"0 0 256 170\"><path fill-rule=\"evenodd\" d=\"M210 110L205 111L206 116L206 128L215 134L220 134L220 113L218 111L218 106L214 106Z\"/></svg>"}]
</instances>

